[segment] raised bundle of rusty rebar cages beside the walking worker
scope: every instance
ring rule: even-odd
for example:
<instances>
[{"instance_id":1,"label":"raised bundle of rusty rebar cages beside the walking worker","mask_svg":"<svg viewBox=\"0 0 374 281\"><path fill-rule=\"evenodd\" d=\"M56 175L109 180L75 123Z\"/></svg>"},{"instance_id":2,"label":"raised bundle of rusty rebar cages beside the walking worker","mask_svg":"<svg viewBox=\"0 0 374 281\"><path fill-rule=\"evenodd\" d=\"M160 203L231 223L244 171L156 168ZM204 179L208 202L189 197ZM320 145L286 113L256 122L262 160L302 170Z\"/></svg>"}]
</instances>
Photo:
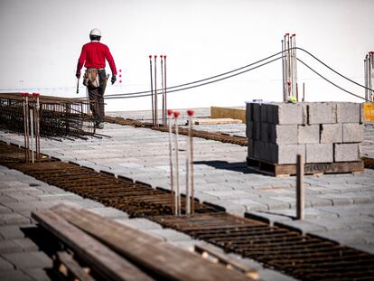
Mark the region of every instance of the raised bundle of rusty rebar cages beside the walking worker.
<instances>
[{"instance_id":1,"label":"raised bundle of rusty rebar cages beside the walking worker","mask_svg":"<svg viewBox=\"0 0 374 281\"><path fill-rule=\"evenodd\" d=\"M95 134L95 120L89 115L89 101L86 99L0 93L0 127L24 133L26 126L31 127L33 123L29 119L30 112L39 119L39 126L34 126L35 131L30 132L35 133L35 136L36 133L40 136L61 137Z\"/></svg>"}]
</instances>

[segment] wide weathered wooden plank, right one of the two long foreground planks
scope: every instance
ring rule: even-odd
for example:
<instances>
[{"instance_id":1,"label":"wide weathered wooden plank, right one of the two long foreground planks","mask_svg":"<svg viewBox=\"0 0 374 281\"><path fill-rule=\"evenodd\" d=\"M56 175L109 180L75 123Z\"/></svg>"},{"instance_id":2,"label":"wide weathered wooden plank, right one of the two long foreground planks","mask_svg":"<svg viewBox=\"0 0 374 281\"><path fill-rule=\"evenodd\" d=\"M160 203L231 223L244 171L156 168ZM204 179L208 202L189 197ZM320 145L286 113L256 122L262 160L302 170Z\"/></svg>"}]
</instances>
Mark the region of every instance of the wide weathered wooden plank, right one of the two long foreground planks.
<instances>
[{"instance_id":1,"label":"wide weathered wooden plank, right one of the two long foreground planks","mask_svg":"<svg viewBox=\"0 0 374 281\"><path fill-rule=\"evenodd\" d=\"M162 280L248 280L191 252L176 248L162 240L157 242L151 235L108 220L90 211L53 208L70 223L114 249L134 264L153 272Z\"/></svg>"}]
</instances>

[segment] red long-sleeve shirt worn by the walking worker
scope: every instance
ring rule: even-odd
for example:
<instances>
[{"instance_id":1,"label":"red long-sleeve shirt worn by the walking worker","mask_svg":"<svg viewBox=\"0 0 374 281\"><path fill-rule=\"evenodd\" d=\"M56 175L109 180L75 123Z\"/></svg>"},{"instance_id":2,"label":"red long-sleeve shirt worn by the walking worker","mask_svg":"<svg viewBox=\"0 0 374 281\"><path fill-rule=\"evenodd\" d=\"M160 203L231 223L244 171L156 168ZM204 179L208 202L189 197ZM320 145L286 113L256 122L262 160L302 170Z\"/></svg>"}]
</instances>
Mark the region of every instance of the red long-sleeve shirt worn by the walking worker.
<instances>
[{"instance_id":1,"label":"red long-sleeve shirt worn by the walking worker","mask_svg":"<svg viewBox=\"0 0 374 281\"><path fill-rule=\"evenodd\" d=\"M104 69L106 59L110 70L112 70L112 75L117 74L116 63L107 45L97 41L84 44L78 60L77 73L80 73L83 63L86 68Z\"/></svg>"}]
</instances>

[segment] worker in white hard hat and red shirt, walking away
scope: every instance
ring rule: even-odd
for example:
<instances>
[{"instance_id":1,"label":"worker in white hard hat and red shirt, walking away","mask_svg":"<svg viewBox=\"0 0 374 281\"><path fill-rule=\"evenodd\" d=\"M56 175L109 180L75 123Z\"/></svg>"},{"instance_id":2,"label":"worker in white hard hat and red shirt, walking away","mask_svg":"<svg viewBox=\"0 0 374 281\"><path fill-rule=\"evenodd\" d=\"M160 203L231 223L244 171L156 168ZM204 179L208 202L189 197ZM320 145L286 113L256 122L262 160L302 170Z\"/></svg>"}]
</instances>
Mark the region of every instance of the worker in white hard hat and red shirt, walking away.
<instances>
[{"instance_id":1,"label":"worker in white hard hat and red shirt, walking away","mask_svg":"<svg viewBox=\"0 0 374 281\"><path fill-rule=\"evenodd\" d=\"M110 70L112 70L112 85L116 82L117 69L112 54L109 52L107 45L99 42L101 32L98 28L94 28L89 33L91 42L84 44L82 52L80 52L76 77L80 78L80 70L84 66L86 72L83 77L83 85L89 90L89 101L92 115L95 117L95 127L102 128L101 122L104 121L104 92L107 87L107 74L105 71L105 60L108 61Z\"/></svg>"}]
</instances>

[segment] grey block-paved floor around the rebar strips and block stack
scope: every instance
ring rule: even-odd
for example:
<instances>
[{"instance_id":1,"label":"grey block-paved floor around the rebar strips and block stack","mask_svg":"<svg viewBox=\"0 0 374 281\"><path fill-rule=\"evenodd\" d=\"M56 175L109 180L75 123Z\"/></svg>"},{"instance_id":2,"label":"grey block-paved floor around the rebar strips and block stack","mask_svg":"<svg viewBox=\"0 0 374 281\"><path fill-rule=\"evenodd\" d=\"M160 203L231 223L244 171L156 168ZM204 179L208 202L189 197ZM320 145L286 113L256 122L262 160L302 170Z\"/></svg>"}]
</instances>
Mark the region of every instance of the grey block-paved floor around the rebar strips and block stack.
<instances>
[{"instance_id":1,"label":"grey block-paved floor around the rebar strips and block stack","mask_svg":"<svg viewBox=\"0 0 374 281\"><path fill-rule=\"evenodd\" d=\"M180 124L186 123L182 110ZM195 110L197 117L210 117L208 108ZM108 112L108 116L146 119L149 111ZM245 136L245 124L204 125L195 129ZM105 123L101 138L41 140L41 152L72 162L126 176L153 187L170 189L169 135L148 128ZM108 137L107 137L108 136ZM374 125L365 124L363 156L374 158ZM0 131L0 140L23 145L23 136ZM186 136L179 136L181 188L184 192ZM305 220L295 220L295 176L276 178L248 169L247 147L194 138L195 196L200 201L221 206L238 216L266 220L331 239L341 245L374 255L374 170L365 173L305 175ZM50 280L47 250L36 242L41 229L31 212L70 202L96 211L137 229L178 245L191 248L191 239L150 220L129 219L125 212L83 199L18 171L0 166L0 280ZM293 280L263 268L253 260L263 280Z\"/></svg>"}]
</instances>

